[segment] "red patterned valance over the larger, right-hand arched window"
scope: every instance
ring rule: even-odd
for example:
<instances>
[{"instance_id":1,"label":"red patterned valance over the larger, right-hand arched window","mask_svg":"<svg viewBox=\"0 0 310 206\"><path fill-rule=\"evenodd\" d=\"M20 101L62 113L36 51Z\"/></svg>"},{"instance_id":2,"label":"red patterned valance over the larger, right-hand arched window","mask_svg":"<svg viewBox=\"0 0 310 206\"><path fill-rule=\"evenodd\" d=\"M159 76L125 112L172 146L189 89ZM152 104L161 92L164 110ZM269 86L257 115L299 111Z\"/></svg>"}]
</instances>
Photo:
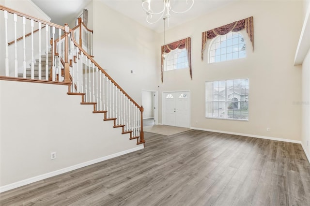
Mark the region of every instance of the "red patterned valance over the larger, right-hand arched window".
<instances>
[{"instance_id":1,"label":"red patterned valance over the larger, right-hand arched window","mask_svg":"<svg viewBox=\"0 0 310 206\"><path fill-rule=\"evenodd\" d=\"M217 35L224 35L230 31L240 31L242 29L246 29L248 33L248 37L252 43L252 47L254 50L254 31L253 31L253 16L242 19L240 21L235 21L231 24L224 25L222 27L218 27L215 29L211 29L208 31L202 32L202 59L203 59L203 51L205 49L205 44L207 39L213 39L217 37Z\"/></svg>"}]
</instances>

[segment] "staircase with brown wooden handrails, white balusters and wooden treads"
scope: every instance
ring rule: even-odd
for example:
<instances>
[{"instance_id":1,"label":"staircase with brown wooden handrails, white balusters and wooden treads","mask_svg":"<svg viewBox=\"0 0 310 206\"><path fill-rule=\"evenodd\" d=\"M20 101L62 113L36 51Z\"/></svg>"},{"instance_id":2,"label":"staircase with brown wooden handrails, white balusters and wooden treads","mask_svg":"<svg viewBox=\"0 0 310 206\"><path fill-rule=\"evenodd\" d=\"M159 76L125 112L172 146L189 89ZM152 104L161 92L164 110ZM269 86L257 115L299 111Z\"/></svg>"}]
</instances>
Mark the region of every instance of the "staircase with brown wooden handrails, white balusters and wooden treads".
<instances>
[{"instance_id":1,"label":"staircase with brown wooden handrails, white balusters and wooden treads","mask_svg":"<svg viewBox=\"0 0 310 206\"><path fill-rule=\"evenodd\" d=\"M16 54L17 41L26 42L26 37L33 35L33 33L37 31L39 35L41 35L39 38L40 40L41 37L42 39L46 38L44 40L46 45L48 42L51 43L51 49L47 52L47 55L41 55L40 59L35 59L34 62L29 64L29 66L23 66L23 73L17 72L17 62L26 61L25 54L31 53L30 48L33 49L33 41L31 46L24 45L24 59L17 59L17 55L15 55L15 68L9 67L9 58L6 53L4 58L1 57L3 62L6 62L6 65L5 75L0 76L0 80L31 81L38 83L68 85L68 95L81 96L81 104L93 105L94 114L103 114L104 121L113 121L113 128L122 128L122 134L129 134L130 140L136 139L137 145L144 145L145 141L142 124L143 107L137 104L124 91L124 89L121 88L109 76L109 74L107 74L100 67L100 65L93 60L92 30L87 29L81 20L79 20L79 25L77 27L74 29L69 29L67 24L64 26L51 24L2 5L0 5L0 10L4 11L4 22L7 22L8 19L10 19L8 18L8 15L14 15L17 16L17 22L29 21L25 24L29 26L33 24L30 23L31 21L34 22L34 24L37 24L37 27L39 28L34 31L32 26L31 33L28 34L25 34L24 29L23 34L21 34L21 37L18 39L15 34L14 43L8 44L6 39L6 50L15 49ZM9 32L16 32L16 29L15 31ZM5 33L8 33L7 27L5 28ZM55 38L56 34L58 34L59 37ZM48 38L51 38L51 41ZM86 49L84 50L83 48L85 47ZM41 48L41 45L39 48ZM33 52L32 59L34 59ZM41 65L39 65L40 63ZM18 63L18 65L22 64ZM32 65L33 69L31 69ZM48 71L46 68L48 68ZM15 71L10 72L11 70ZM12 73L15 75L10 76Z\"/></svg>"}]
</instances>

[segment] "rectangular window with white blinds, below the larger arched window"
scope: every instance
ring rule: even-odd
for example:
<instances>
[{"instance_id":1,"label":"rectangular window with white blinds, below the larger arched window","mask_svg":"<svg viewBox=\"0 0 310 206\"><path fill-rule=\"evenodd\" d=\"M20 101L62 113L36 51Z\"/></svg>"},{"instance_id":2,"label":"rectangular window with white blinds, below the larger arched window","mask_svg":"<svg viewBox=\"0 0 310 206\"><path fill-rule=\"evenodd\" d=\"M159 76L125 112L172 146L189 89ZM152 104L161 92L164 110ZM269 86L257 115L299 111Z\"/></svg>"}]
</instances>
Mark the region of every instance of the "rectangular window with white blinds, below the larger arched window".
<instances>
[{"instance_id":1,"label":"rectangular window with white blinds, below the larger arched window","mask_svg":"<svg viewBox=\"0 0 310 206\"><path fill-rule=\"evenodd\" d=\"M240 85L239 85L239 82L240 82ZM244 83L245 86L241 87L242 86L241 83ZM217 94L216 94L215 92L216 89L214 87L215 84L216 85L221 84L221 88L224 88L224 89L222 90L217 89ZM233 87L232 87L232 84L233 84ZM231 86L228 86L228 85L231 85ZM212 88L210 88L211 86ZM240 87L240 97L234 96L235 93L238 93L239 87ZM228 88L233 89L233 92L229 93ZM212 89L212 94L209 93L210 89ZM242 89L248 89L248 91L242 92ZM229 96L231 94L233 94L233 97L230 98ZM224 100L220 100L220 96ZM205 118L248 121L249 119L248 97L249 97L249 80L248 79L207 81L205 82ZM230 105L233 104L232 102L233 98L238 99L238 108L236 109L230 108L231 107ZM245 107L247 107L247 109L244 109ZM247 118L243 118L243 116L246 114L247 114Z\"/></svg>"}]
</instances>

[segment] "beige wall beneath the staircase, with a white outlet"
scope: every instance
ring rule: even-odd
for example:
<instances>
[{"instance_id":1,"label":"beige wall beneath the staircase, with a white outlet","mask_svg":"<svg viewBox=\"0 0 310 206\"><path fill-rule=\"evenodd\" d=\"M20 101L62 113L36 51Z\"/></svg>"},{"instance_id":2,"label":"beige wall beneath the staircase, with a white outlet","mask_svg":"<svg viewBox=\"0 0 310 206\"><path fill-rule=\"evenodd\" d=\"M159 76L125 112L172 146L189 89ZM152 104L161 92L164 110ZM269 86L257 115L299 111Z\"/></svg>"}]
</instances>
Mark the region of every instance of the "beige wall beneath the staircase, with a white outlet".
<instances>
[{"instance_id":1,"label":"beige wall beneath the staircase, with a white outlet","mask_svg":"<svg viewBox=\"0 0 310 206\"><path fill-rule=\"evenodd\" d=\"M1 187L141 147L67 91L67 86L0 81ZM57 159L50 160L54 151Z\"/></svg>"}]
</instances>

